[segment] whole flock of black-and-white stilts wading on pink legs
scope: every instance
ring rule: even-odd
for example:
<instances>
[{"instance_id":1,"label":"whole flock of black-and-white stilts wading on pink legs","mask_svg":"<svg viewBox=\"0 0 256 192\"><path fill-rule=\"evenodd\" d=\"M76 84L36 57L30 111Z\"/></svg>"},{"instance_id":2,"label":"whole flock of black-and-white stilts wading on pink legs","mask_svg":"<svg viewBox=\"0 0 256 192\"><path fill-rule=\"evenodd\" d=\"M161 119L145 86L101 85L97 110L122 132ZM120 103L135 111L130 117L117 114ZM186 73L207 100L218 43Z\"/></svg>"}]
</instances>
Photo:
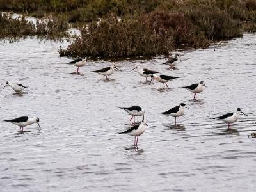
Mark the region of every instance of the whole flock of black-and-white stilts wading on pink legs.
<instances>
[{"instance_id":1,"label":"whole flock of black-and-white stilts wading on pink legs","mask_svg":"<svg viewBox=\"0 0 256 192\"><path fill-rule=\"evenodd\" d=\"M166 61L163 64L169 65L170 69L175 69L174 63L175 63L175 61L178 61L178 60L179 60L179 54L176 54L175 58L170 58L170 60ZM79 74L79 67L83 67L85 65L85 63L86 63L86 58L78 58L78 59L71 61L67 64L76 66L77 67L76 73ZM150 70L148 68L143 68L143 67L140 67L140 65L136 66L132 70L135 70L135 69L138 70L138 74L140 74L141 76L146 78L146 82L147 82L147 78L151 77L149 84L151 84L153 80L156 80L160 83L163 83L164 88L165 88L165 86L168 87L168 84L167 84L168 81L180 78L180 77L167 76L167 75L163 75L163 74L157 75L159 73L158 71ZM112 65L111 67L105 67L100 70L95 70L92 72L106 76L106 79L108 79L108 76L113 74L115 70L119 70L122 72L122 70L118 69L116 67L116 65ZM22 91L25 88L27 88L26 86L24 86L22 84L10 83L8 81L6 82L6 85L4 86L4 88L6 86L10 86L16 93L22 93ZM190 92L194 93L194 99L195 99L196 93L203 92L204 89L206 88L206 86L204 84L204 81L201 81L200 83L191 84L189 86L184 86L182 88L186 88L186 90L189 90ZM161 114L175 117L175 126L176 126L176 118L184 115L185 108L188 108L188 107L186 107L186 104L180 103L179 106L175 106L174 108L172 108L168 111L165 111ZM141 134L143 134L143 132L145 132L145 126L147 125L144 120L145 109L142 109L140 106L132 106L129 108L120 107L120 109L124 109L127 113L129 113L129 115L131 115L130 121L132 122L132 119L133 119L134 124L135 124L135 116L143 116L143 120L141 120L140 124L135 124L130 129L128 129L124 132L118 133L118 134L129 134L131 136L134 136L134 146L138 145L138 136L140 136ZM228 123L228 129L230 129L230 124L232 124L238 120L240 113L243 113L243 112L241 111L240 108L237 108L236 112L234 112L234 113L227 113L223 116L218 116L213 119L217 118L219 120L222 120L223 122ZM245 113L243 113L243 114L246 115ZM39 118L36 116L33 118L31 118L29 116L21 116L19 118L3 120L3 121L11 122L15 125L18 125L20 127L20 132L23 132L24 127L31 125L33 123L37 123L39 126L39 130L41 129L40 125L39 125Z\"/></svg>"}]
</instances>

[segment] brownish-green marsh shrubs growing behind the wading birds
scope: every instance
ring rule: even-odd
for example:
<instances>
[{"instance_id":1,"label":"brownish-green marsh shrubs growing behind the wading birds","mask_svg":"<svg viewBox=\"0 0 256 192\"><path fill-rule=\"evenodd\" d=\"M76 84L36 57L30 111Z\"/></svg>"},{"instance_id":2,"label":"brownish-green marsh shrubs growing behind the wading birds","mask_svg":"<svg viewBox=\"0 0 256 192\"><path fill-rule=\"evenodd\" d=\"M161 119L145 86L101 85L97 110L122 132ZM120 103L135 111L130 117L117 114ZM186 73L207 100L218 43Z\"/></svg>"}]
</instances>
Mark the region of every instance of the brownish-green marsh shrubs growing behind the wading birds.
<instances>
[{"instance_id":1,"label":"brownish-green marsh shrubs growing behind the wading birds","mask_svg":"<svg viewBox=\"0 0 256 192\"><path fill-rule=\"evenodd\" d=\"M68 22L77 26L81 36L60 49L61 56L168 54L256 31L256 0L0 0L0 10L54 18L36 28L24 19L4 26L2 17L2 38L18 32L61 37ZM9 33L12 25L17 33Z\"/></svg>"}]
</instances>

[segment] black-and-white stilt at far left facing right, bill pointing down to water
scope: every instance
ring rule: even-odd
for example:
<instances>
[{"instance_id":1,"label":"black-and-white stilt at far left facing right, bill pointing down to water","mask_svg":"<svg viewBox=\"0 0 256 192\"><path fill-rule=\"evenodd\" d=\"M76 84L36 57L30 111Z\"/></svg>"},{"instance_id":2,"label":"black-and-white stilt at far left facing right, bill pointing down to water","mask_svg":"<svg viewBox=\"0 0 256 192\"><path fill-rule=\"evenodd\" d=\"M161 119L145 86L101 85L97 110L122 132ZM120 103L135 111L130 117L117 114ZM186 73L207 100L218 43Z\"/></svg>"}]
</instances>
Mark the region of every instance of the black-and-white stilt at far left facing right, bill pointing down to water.
<instances>
[{"instance_id":1,"label":"black-and-white stilt at far left facing right, bill pointing down to water","mask_svg":"<svg viewBox=\"0 0 256 192\"><path fill-rule=\"evenodd\" d=\"M14 118L14 119L8 119L8 120L3 120L4 122L10 122L12 124L15 124L20 127L20 132L23 132L23 128L31 125L31 124L38 124L39 130L41 129L39 125L39 118L34 116L34 117L29 117L29 116L20 116L19 118Z\"/></svg>"}]
</instances>

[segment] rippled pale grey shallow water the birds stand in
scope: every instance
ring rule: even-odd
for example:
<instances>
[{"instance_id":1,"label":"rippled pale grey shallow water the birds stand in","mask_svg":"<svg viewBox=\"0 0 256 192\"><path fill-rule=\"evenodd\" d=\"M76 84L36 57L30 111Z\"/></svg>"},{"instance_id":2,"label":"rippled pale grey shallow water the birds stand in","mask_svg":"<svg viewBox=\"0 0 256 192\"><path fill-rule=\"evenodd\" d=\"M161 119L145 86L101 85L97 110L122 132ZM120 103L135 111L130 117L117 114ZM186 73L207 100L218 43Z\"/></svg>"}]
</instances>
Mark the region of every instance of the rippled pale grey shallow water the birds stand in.
<instances>
[{"instance_id":1,"label":"rippled pale grey shallow water the birds stand in","mask_svg":"<svg viewBox=\"0 0 256 192\"><path fill-rule=\"evenodd\" d=\"M24 95L11 88L0 92L0 119L38 116L37 125L19 127L0 122L0 191L255 191L256 35L192 51L180 51L179 70L167 70L166 57L116 61L124 72L113 81L90 71L113 65L88 60L83 75L58 57L67 43L27 38L0 42L0 86L18 82L29 86ZM216 51L214 51L214 48ZM181 76L168 83L145 84L136 64ZM208 86L193 100L179 86L204 80ZM180 102L184 116L163 116ZM116 135L128 127L130 116L117 106L140 105L149 127L134 138ZM211 117L240 107L241 116L227 124ZM140 118L141 119L141 118ZM139 120L139 118L137 118Z\"/></svg>"}]
</instances>

